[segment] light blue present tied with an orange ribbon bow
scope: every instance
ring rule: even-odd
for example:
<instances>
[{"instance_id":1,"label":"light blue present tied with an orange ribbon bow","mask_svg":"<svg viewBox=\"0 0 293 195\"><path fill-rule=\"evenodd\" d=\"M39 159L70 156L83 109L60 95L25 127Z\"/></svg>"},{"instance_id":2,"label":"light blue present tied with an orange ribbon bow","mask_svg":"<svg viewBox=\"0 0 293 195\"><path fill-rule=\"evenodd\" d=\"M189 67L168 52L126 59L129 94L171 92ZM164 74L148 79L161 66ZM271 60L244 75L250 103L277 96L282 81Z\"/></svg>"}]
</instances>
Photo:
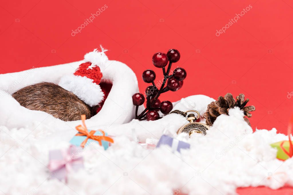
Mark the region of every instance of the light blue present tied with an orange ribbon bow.
<instances>
[{"instance_id":1,"label":"light blue present tied with an orange ribbon bow","mask_svg":"<svg viewBox=\"0 0 293 195\"><path fill-rule=\"evenodd\" d=\"M85 147L90 145L93 142L97 142L100 146L103 146L104 149L108 149L109 143L114 143L111 137L108 137L108 133L102 130L90 130L86 128L85 124L86 116L81 115L81 121L83 125L76 126L77 133L71 140L70 143L76 146Z\"/></svg>"}]
</instances>

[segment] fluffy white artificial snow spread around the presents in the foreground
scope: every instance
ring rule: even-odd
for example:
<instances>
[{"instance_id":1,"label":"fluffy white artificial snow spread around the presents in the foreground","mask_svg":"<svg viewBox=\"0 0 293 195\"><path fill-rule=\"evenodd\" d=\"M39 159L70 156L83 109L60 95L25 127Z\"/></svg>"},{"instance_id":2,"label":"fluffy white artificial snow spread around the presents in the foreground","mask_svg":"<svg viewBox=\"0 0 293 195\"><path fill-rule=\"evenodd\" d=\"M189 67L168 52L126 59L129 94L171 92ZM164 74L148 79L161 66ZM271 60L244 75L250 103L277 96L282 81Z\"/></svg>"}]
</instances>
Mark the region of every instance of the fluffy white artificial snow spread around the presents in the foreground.
<instances>
[{"instance_id":1,"label":"fluffy white artificial snow spread around the presents in the foreground","mask_svg":"<svg viewBox=\"0 0 293 195\"><path fill-rule=\"evenodd\" d=\"M174 109L203 114L212 100L190 96ZM26 128L0 126L0 194L235 194L237 187L293 185L293 159L277 160L270 147L287 136L274 128L252 133L239 109L219 116L205 136L181 136L191 145L181 154L168 146L147 149L137 142L155 143L163 133L176 137L187 122L170 114L158 121L96 126L115 136L114 144L106 151L98 144L82 150L85 168L70 173L68 183L50 179L48 152L67 148L74 128L60 130L41 122Z\"/></svg>"}]
</instances>

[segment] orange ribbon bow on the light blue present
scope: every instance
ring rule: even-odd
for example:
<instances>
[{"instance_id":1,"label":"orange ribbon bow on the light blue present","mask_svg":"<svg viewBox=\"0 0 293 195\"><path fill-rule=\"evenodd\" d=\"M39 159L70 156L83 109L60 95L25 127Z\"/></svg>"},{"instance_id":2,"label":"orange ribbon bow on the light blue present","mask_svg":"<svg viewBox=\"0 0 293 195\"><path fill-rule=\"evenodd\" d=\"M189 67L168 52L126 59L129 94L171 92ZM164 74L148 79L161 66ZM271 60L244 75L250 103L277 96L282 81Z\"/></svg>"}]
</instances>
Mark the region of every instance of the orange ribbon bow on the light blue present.
<instances>
[{"instance_id":1,"label":"orange ribbon bow on the light blue present","mask_svg":"<svg viewBox=\"0 0 293 195\"><path fill-rule=\"evenodd\" d=\"M102 145L102 140L114 143L113 139L110 137L105 136L105 131L100 131L103 135L94 135L96 131L91 130L88 132L88 129L86 128L86 115L81 115L81 121L83 125L76 126L76 130L78 130L79 133L77 133L75 136L86 136L86 139L80 144L80 147L84 147L86 145L86 142L88 139L96 140L99 142L100 146Z\"/></svg>"}]
</instances>

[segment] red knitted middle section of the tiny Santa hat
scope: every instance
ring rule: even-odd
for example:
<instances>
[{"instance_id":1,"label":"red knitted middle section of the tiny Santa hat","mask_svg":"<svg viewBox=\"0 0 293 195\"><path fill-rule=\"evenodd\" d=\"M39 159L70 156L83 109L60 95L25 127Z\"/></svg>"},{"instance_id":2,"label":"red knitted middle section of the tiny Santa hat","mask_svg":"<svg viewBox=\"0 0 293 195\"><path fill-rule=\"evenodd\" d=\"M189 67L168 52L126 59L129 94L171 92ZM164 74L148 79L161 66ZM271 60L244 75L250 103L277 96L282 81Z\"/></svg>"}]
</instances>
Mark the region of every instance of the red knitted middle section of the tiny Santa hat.
<instances>
[{"instance_id":1,"label":"red knitted middle section of the tiny Santa hat","mask_svg":"<svg viewBox=\"0 0 293 195\"><path fill-rule=\"evenodd\" d=\"M89 79L93 79L93 83L96 83L98 85L103 77L103 74L101 73L100 67L98 66L94 66L88 69L90 65L91 62L82 63L74 72L74 75L86 76Z\"/></svg>"}]
</instances>

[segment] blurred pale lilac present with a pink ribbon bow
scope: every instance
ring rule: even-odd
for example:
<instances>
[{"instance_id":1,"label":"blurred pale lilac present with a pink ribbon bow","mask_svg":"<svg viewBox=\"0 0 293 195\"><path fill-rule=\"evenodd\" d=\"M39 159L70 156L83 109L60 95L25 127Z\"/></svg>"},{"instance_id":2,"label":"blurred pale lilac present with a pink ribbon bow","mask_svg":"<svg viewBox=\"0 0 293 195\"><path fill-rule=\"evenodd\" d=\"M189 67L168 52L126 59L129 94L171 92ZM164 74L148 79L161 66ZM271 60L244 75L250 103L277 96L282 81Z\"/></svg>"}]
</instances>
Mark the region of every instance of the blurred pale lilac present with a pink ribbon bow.
<instances>
[{"instance_id":1,"label":"blurred pale lilac present with a pink ribbon bow","mask_svg":"<svg viewBox=\"0 0 293 195\"><path fill-rule=\"evenodd\" d=\"M67 173L84 168L83 157L78 152L78 148L71 145L66 150L52 150L49 152L48 168L51 177L67 182Z\"/></svg>"}]
</instances>

